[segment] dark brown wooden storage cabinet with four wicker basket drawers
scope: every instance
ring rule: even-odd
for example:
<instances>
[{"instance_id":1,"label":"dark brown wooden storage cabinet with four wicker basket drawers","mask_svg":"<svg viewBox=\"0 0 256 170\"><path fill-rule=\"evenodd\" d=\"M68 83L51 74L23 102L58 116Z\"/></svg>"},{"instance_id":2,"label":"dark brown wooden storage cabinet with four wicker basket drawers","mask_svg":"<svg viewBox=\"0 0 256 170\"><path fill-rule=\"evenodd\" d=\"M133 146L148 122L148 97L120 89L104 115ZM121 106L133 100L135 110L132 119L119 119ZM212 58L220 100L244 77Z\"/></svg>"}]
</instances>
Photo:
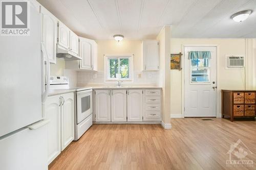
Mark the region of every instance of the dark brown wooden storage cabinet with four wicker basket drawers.
<instances>
[{"instance_id":1,"label":"dark brown wooden storage cabinet with four wicker basket drawers","mask_svg":"<svg viewBox=\"0 0 256 170\"><path fill-rule=\"evenodd\" d=\"M221 90L222 117L255 117L255 93L253 90Z\"/></svg>"}]
</instances>

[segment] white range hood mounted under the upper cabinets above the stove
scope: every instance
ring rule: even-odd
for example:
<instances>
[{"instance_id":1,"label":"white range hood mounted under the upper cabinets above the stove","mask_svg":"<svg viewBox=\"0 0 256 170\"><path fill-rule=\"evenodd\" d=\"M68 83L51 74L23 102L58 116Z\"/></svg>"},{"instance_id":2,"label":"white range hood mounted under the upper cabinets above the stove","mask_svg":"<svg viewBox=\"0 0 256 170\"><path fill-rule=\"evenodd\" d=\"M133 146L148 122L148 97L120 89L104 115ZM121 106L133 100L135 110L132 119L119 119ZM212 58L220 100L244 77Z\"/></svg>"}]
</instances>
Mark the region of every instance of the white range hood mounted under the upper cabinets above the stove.
<instances>
[{"instance_id":1,"label":"white range hood mounted under the upper cabinets above the stove","mask_svg":"<svg viewBox=\"0 0 256 170\"><path fill-rule=\"evenodd\" d=\"M58 44L57 44L57 57L63 58L66 61L81 60L81 58L77 54Z\"/></svg>"}]
</instances>

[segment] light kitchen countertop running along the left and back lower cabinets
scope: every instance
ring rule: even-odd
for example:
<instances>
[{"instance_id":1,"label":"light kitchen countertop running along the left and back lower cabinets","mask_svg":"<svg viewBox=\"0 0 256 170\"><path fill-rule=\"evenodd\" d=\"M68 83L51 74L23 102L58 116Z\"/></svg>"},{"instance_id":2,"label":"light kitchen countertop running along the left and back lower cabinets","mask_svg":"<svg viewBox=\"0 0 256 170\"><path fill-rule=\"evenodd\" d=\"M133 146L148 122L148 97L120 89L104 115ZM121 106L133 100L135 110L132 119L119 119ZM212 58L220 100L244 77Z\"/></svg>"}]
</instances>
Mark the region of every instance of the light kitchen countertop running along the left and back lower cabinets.
<instances>
[{"instance_id":1,"label":"light kitchen countertop running along the left and back lower cabinets","mask_svg":"<svg viewBox=\"0 0 256 170\"><path fill-rule=\"evenodd\" d=\"M90 89L162 89L162 87L157 86L95 86L95 87L71 87L69 89L50 89L48 96L70 93L81 90Z\"/></svg>"}]
</instances>

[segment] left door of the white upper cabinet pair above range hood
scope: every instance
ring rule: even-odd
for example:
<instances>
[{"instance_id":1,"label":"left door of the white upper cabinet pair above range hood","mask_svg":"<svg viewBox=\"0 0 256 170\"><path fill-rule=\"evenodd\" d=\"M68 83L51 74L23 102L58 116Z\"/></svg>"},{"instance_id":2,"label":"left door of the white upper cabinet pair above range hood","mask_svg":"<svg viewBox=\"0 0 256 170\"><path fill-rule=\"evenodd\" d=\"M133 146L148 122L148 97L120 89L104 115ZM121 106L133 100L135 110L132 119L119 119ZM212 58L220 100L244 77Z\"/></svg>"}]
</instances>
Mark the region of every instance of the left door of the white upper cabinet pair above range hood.
<instances>
[{"instance_id":1,"label":"left door of the white upper cabinet pair above range hood","mask_svg":"<svg viewBox=\"0 0 256 170\"><path fill-rule=\"evenodd\" d=\"M69 49L69 33L70 29L58 21L58 44L66 49Z\"/></svg>"}]
</instances>

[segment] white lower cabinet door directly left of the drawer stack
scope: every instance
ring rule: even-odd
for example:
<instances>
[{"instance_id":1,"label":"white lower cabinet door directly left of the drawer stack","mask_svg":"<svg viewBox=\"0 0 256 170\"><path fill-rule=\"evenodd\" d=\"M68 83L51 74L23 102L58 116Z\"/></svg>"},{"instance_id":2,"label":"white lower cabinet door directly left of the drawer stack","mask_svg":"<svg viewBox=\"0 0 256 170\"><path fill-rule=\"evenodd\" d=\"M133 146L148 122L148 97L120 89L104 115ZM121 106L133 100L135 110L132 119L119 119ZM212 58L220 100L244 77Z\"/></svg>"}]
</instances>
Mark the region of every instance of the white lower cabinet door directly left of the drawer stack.
<instances>
[{"instance_id":1,"label":"white lower cabinet door directly left of the drawer stack","mask_svg":"<svg viewBox=\"0 0 256 170\"><path fill-rule=\"evenodd\" d=\"M131 89L127 92L127 121L142 121L143 112L143 95L142 89Z\"/></svg>"}]
</instances>

